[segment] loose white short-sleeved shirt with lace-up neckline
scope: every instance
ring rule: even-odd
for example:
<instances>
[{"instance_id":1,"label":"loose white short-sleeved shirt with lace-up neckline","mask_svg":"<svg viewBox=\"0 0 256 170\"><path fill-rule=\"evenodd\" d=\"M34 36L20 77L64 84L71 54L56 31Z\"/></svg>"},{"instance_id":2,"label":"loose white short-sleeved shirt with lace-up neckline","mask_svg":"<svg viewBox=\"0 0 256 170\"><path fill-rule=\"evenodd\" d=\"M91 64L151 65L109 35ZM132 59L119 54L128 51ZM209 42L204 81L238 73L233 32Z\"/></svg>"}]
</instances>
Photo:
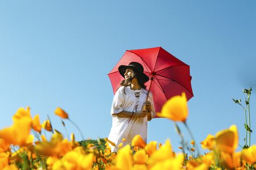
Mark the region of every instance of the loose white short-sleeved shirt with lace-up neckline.
<instances>
[{"instance_id":1,"label":"loose white short-sleeved shirt with lace-up neckline","mask_svg":"<svg viewBox=\"0 0 256 170\"><path fill-rule=\"evenodd\" d=\"M112 128L108 138L109 141L115 143L115 146L109 145L112 152L118 151L119 143L123 143L123 146L130 144L133 137L137 134L141 135L143 140L147 142L147 116L143 118L113 116L114 113L122 111L141 111L143 103L146 101L147 92L143 88L141 90L131 90L130 86L122 86L115 93L111 108L111 115L113 117ZM139 97L135 97L134 93L139 95ZM151 92L148 95L148 101L152 105L151 116L153 118L155 116L155 108ZM126 142L122 141L123 138L126 139Z\"/></svg>"}]
</instances>

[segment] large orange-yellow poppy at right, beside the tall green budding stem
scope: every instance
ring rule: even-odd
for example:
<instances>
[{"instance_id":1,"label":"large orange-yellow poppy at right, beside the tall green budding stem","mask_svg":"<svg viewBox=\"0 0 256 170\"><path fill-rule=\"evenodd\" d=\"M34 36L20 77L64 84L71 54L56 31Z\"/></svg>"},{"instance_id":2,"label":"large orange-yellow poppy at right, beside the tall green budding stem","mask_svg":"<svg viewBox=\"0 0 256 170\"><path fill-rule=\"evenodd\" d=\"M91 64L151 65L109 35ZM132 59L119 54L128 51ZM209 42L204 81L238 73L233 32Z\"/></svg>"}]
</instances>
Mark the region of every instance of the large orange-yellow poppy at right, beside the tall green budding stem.
<instances>
[{"instance_id":1,"label":"large orange-yellow poppy at right, beside the tall green budding stem","mask_svg":"<svg viewBox=\"0 0 256 170\"><path fill-rule=\"evenodd\" d=\"M232 154L238 146L238 131L237 126L232 125L229 129L219 131L216 134L217 150Z\"/></svg>"}]
</instances>

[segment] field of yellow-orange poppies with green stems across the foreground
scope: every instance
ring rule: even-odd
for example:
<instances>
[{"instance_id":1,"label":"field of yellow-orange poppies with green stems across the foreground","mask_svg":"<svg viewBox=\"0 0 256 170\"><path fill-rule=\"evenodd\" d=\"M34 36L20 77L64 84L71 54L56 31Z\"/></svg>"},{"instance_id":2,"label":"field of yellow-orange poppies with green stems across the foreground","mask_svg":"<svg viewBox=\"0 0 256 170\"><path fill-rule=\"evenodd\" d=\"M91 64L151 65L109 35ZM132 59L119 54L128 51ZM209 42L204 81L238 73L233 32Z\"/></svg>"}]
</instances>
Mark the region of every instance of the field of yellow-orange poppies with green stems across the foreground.
<instances>
[{"instance_id":1,"label":"field of yellow-orange poppies with green stems across the foreground","mask_svg":"<svg viewBox=\"0 0 256 170\"><path fill-rule=\"evenodd\" d=\"M182 94L168 100L158 113L159 117L174 121L181 138L178 152L172 149L170 140L163 144L145 143L137 135L130 145L121 143L119 151L112 153L110 145L115 143L107 138L78 142L71 134L70 139L64 139L63 134L52 129L49 119L41 124L38 114L31 117L30 108L19 108L13 116L13 125L0 130L0 169L256 169L256 146L250 143L252 131L248 108L251 88L244 93L247 95L246 107L241 100L233 99L246 112L246 140L241 151L237 151L237 127L232 125L205 137L200 146L208 152L200 154L199 145L186 122L187 99ZM61 108L56 108L55 114L71 121ZM185 145L176 122L184 124L189 131L192 138L189 145ZM52 133L51 139L46 139L43 130Z\"/></svg>"}]
</instances>

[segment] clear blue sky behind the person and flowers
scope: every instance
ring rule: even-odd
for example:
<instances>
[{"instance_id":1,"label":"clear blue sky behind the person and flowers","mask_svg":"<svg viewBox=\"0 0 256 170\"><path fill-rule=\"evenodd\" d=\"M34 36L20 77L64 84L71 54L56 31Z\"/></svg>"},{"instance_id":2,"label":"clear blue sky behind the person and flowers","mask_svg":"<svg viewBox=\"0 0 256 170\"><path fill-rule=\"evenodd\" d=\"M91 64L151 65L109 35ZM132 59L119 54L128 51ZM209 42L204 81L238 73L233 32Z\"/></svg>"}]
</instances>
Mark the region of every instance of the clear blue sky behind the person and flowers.
<instances>
[{"instance_id":1,"label":"clear blue sky behind the person and flowers","mask_svg":"<svg viewBox=\"0 0 256 170\"><path fill-rule=\"evenodd\" d=\"M188 101L196 141L245 116L232 98L251 95L251 142L256 143L256 1L1 1L0 128L20 107L63 132L57 107L85 138L108 137L113 91L108 73L127 49L162 46L191 66L195 97ZM68 132L81 136L65 121ZM184 126L179 124L190 141ZM49 134L47 134L49 137ZM180 138L172 121L155 118L148 141Z\"/></svg>"}]
</instances>

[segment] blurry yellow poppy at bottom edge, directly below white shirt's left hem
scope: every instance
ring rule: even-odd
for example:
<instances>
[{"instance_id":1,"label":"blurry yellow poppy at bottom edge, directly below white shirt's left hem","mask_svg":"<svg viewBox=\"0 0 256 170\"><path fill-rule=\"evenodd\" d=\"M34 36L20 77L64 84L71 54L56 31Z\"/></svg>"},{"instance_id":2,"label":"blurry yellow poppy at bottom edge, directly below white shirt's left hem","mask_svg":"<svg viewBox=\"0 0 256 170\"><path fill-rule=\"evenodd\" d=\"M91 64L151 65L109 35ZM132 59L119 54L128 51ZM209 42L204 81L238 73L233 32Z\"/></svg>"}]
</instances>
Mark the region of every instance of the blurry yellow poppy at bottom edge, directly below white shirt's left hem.
<instances>
[{"instance_id":1,"label":"blurry yellow poppy at bottom edge, directly below white shirt's left hem","mask_svg":"<svg viewBox=\"0 0 256 170\"><path fill-rule=\"evenodd\" d=\"M129 170L133 168L133 158L131 156L131 149L129 145L126 145L118 151L115 161L115 167L119 169Z\"/></svg>"}]
</instances>

